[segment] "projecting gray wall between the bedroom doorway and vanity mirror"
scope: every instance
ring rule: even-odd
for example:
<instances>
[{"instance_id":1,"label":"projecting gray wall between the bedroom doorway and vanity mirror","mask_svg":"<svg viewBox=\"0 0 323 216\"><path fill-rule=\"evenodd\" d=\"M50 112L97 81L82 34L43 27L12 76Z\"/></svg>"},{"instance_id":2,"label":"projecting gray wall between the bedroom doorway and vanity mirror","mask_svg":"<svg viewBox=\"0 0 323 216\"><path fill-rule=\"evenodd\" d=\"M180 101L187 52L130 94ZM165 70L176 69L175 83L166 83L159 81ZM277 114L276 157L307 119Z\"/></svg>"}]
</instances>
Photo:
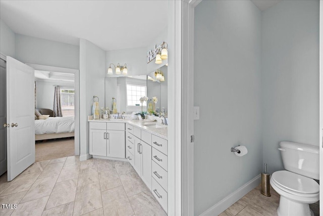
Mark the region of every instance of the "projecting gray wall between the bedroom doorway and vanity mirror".
<instances>
[{"instance_id":1,"label":"projecting gray wall between the bedroom doorway and vanity mirror","mask_svg":"<svg viewBox=\"0 0 323 216\"><path fill-rule=\"evenodd\" d=\"M93 96L104 106L105 51L86 39L80 39L80 158L88 154L88 121Z\"/></svg>"}]
</instances>

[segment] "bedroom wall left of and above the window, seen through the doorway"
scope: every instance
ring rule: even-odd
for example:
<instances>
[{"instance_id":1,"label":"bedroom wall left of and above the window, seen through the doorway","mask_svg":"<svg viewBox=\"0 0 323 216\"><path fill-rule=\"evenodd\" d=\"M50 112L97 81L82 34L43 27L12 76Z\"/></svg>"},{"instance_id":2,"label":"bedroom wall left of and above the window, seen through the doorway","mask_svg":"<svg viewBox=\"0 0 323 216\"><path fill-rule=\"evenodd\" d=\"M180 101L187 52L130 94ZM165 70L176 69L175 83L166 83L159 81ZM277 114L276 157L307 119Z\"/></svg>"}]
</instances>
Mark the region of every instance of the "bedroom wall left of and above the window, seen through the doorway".
<instances>
[{"instance_id":1,"label":"bedroom wall left of and above the window, seen through the doorway","mask_svg":"<svg viewBox=\"0 0 323 216\"><path fill-rule=\"evenodd\" d=\"M74 83L63 81L37 81L37 108L53 109L54 85L71 87L74 89Z\"/></svg>"}]
</instances>

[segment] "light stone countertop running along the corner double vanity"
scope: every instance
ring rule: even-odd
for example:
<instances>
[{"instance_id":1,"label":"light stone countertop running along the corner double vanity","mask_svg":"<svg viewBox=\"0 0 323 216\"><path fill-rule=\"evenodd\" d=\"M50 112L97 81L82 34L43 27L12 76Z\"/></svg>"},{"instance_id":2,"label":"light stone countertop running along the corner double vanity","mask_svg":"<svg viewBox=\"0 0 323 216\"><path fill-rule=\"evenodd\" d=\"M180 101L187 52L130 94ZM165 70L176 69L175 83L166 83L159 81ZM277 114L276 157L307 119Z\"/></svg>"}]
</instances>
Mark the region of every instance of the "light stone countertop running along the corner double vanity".
<instances>
[{"instance_id":1,"label":"light stone countertop running along the corner double vanity","mask_svg":"<svg viewBox=\"0 0 323 216\"><path fill-rule=\"evenodd\" d=\"M156 123L157 125L164 126L164 125L161 125L158 121L157 122L151 122L151 121L146 121L146 120L139 120L139 119L132 120L132 119L127 119L127 118L126 119L112 119L112 118L109 118L109 119L95 119L94 120L92 115L88 116L88 121L111 122L111 123L128 123L128 124L131 124L133 126L140 127L144 131L150 132L153 135L156 135L158 137L161 137L161 138L164 138L164 139L168 140L168 126L162 127L162 128L156 128L156 127L153 127L153 126L145 126L145 125L143 125L143 124L149 124L149 123L151 123L151 124Z\"/></svg>"}]
</instances>

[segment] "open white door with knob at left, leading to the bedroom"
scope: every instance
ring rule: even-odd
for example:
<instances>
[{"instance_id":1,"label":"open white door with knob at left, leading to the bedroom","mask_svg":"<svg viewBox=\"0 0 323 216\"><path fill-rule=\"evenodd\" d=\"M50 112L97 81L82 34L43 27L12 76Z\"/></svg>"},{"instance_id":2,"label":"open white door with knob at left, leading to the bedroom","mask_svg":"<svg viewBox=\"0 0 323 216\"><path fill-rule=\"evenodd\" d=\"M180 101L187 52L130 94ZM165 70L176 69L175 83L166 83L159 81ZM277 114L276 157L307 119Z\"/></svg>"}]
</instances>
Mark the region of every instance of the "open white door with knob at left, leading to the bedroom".
<instances>
[{"instance_id":1,"label":"open white door with knob at left, leading to the bedroom","mask_svg":"<svg viewBox=\"0 0 323 216\"><path fill-rule=\"evenodd\" d=\"M35 162L34 69L7 57L8 181Z\"/></svg>"}]
</instances>

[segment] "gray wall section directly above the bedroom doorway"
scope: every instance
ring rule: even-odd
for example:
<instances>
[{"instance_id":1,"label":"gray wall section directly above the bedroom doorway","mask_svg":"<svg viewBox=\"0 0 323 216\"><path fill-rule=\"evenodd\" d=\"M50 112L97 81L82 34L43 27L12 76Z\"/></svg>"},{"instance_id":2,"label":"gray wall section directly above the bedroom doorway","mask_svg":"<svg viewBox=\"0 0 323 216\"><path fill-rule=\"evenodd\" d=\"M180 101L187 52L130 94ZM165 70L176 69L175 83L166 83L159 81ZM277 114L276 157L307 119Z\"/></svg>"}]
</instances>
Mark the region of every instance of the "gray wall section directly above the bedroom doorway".
<instances>
[{"instance_id":1,"label":"gray wall section directly above the bedroom doorway","mask_svg":"<svg viewBox=\"0 0 323 216\"><path fill-rule=\"evenodd\" d=\"M16 34L15 56L23 63L79 69L79 46Z\"/></svg>"}]
</instances>

